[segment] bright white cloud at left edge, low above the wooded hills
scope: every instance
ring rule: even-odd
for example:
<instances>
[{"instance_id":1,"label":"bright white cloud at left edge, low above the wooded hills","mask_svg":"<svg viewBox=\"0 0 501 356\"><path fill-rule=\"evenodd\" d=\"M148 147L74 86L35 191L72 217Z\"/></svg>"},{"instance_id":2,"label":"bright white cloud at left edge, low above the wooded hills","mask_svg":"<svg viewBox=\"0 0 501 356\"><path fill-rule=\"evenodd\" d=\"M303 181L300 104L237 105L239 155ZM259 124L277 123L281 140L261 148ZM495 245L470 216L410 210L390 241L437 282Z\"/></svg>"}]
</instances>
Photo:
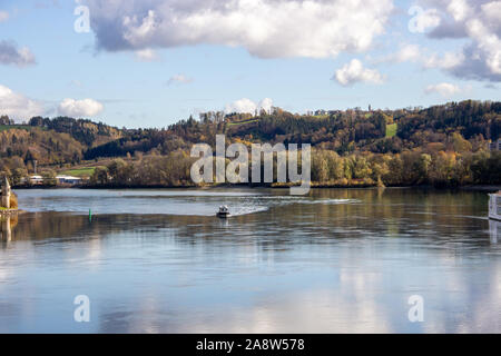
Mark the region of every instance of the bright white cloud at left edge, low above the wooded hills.
<instances>
[{"instance_id":1,"label":"bright white cloud at left edge, low above the wooded hills","mask_svg":"<svg viewBox=\"0 0 501 356\"><path fill-rule=\"evenodd\" d=\"M16 121L28 120L43 113L43 105L0 85L0 115Z\"/></svg>"}]
</instances>

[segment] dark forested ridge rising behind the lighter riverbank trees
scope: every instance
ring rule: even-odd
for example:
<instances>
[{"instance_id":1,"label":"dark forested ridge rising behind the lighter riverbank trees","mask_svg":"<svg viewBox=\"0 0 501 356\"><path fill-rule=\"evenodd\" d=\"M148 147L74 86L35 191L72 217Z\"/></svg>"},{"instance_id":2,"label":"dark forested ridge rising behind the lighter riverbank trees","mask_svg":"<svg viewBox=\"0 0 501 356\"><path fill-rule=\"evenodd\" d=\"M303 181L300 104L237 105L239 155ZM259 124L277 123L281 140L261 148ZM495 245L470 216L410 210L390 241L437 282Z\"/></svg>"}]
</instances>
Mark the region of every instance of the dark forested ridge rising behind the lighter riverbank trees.
<instances>
[{"instance_id":1,"label":"dark forested ridge rising behind the lighter riverbank trees","mask_svg":"<svg viewBox=\"0 0 501 356\"><path fill-rule=\"evenodd\" d=\"M91 148L86 159L120 157L136 151L166 155L189 149L195 142L214 144L216 134L229 140L312 144L337 154L401 152L428 144L446 144L452 134L473 148L495 140L501 132L501 102L463 101L421 110L333 111L325 116L301 116L274 108L252 117L217 113L180 121L165 130L129 130L119 140Z\"/></svg>"}]
</instances>

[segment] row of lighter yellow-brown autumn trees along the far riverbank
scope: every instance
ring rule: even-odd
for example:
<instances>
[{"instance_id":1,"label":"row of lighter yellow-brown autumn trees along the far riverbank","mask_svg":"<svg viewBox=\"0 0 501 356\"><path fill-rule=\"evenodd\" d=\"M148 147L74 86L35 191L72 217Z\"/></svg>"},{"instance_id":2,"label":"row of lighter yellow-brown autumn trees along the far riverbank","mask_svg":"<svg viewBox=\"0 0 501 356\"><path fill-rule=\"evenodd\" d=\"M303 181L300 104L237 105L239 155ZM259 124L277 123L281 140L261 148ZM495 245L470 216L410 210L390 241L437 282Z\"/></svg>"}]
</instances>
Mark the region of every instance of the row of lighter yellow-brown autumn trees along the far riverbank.
<instances>
[{"instance_id":1,"label":"row of lighter yellow-brown autumn trees along the far riverbank","mask_svg":"<svg viewBox=\"0 0 501 356\"><path fill-rule=\"evenodd\" d=\"M195 159L188 151L166 156L136 156L115 159L97 167L90 178L92 186L116 187L186 187L194 186L190 167ZM228 164L229 160L226 160ZM262 162L263 165L263 162ZM214 168L214 171L215 168ZM261 167L264 171L264 167ZM252 176L252 164L248 167ZM276 161L274 181L276 181ZM324 149L312 151L314 186L422 186L458 187L501 184L501 152L436 151L433 148L402 154L356 152L340 156Z\"/></svg>"}]
</instances>

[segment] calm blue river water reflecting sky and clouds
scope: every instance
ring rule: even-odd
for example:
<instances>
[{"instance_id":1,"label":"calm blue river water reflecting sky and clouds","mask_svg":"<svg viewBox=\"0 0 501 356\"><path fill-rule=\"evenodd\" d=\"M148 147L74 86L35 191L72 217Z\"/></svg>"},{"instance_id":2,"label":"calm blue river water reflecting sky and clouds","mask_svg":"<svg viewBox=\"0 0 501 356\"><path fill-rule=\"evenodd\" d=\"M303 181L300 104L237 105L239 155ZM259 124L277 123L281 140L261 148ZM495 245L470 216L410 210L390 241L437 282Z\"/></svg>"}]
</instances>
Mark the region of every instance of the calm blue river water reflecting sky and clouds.
<instances>
[{"instance_id":1,"label":"calm blue river water reflecting sky and clouds","mask_svg":"<svg viewBox=\"0 0 501 356\"><path fill-rule=\"evenodd\" d=\"M0 333L501 333L501 226L483 192L17 194ZM78 295L90 323L73 319Z\"/></svg>"}]
</instances>

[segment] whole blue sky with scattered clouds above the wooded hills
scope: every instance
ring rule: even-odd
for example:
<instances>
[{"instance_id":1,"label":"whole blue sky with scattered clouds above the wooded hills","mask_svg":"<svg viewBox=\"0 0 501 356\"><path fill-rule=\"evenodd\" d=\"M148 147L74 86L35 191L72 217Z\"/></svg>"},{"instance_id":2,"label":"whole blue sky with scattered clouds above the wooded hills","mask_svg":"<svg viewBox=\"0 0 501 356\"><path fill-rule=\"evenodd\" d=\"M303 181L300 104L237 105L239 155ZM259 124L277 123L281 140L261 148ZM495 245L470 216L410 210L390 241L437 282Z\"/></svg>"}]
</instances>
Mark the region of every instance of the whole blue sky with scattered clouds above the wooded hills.
<instances>
[{"instance_id":1,"label":"whole blue sky with scattered clouds above the wooded hills","mask_svg":"<svg viewBox=\"0 0 501 356\"><path fill-rule=\"evenodd\" d=\"M0 0L0 115L167 127L500 100L501 1Z\"/></svg>"}]
</instances>

